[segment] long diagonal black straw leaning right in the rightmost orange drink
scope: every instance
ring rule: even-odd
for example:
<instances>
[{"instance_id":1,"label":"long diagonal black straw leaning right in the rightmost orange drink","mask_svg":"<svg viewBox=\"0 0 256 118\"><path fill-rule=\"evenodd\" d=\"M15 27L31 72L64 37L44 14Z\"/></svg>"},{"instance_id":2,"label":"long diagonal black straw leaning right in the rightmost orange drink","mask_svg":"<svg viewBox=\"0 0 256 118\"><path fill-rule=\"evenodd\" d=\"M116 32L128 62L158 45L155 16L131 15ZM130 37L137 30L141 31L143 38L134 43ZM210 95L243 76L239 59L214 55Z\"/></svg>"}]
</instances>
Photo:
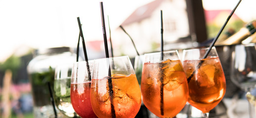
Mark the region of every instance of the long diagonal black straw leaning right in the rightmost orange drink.
<instances>
[{"instance_id":1,"label":"long diagonal black straw leaning right in the rightmost orange drink","mask_svg":"<svg viewBox=\"0 0 256 118\"><path fill-rule=\"evenodd\" d=\"M233 13L235 12L236 8L238 7L238 5L240 4L242 0L239 0L238 3L236 4L235 8L231 11L230 15L227 17L227 20L226 22L223 24L223 26L221 27L221 29L218 31L217 35L214 37L213 39L213 42L211 43L210 47L209 47L209 50L207 50L206 54L204 55L203 59L206 59L206 57L208 56L208 54L210 53L210 51L212 50L213 48L213 45L214 43L217 41L220 33L222 32L222 30L225 28L225 26L227 25L227 22L229 21L229 19L231 18L231 16L233 15ZM198 68L200 68L200 66L202 65L202 63L204 62L204 60L201 60L199 63L198 63ZM196 69L196 70L197 70ZM188 77L187 81L189 83L189 81L191 80L191 78L194 76L196 71L193 71L193 73Z\"/></svg>"}]
</instances>

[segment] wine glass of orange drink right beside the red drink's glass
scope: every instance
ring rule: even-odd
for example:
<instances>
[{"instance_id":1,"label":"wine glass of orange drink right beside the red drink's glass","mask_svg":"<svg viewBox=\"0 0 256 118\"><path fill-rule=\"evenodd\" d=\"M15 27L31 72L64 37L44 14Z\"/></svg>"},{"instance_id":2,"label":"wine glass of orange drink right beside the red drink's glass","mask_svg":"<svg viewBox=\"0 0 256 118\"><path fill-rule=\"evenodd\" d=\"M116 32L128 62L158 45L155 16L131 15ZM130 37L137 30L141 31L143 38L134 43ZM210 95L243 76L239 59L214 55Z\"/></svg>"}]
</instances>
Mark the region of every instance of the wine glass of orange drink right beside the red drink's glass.
<instances>
[{"instance_id":1,"label":"wine glass of orange drink right beside the red drink's glass","mask_svg":"<svg viewBox=\"0 0 256 118\"><path fill-rule=\"evenodd\" d=\"M141 92L128 56L95 59L91 105L99 118L134 118Z\"/></svg>"}]
</instances>

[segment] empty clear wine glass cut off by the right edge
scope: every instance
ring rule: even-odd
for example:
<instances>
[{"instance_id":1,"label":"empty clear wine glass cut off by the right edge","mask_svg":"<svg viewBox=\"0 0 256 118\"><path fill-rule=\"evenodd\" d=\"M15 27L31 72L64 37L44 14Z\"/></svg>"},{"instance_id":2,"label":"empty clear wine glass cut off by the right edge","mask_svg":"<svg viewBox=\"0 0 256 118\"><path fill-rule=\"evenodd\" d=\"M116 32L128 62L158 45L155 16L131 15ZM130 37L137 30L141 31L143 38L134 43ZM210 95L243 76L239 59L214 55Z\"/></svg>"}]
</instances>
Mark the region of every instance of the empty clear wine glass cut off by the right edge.
<instances>
[{"instance_id":1,"label":"empty clear wine glass cut off by the right edge","mask_svg":"<svg viewBox=\"0 0 256 118\"><path fill-rule=\"evenodd\" d=\"M231 81L240 89L247 92L251 99L251 90L256 88L256 49L255 44L236 45L232 52ZM251 100L249 100L251 101ZM251 105L249 115L252 118Z\"/></svg>"}]
</instances>

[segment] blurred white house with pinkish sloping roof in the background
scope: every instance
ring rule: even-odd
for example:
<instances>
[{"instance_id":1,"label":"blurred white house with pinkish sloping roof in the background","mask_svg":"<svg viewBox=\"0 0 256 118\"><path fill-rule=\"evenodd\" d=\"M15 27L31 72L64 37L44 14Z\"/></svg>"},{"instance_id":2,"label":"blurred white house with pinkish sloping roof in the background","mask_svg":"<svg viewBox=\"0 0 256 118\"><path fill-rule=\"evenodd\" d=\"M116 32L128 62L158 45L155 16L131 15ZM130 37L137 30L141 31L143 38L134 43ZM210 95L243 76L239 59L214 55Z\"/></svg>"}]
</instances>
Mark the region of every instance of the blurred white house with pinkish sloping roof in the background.
<instances>
[{"instance_id":1,"label":"blurred white house with pinkish sloping roof in the background","mask_svg":"<svg viewBox=\"0 0 256 118\"><path fill-rule=\"evenodd\" d=\"M164 42L169 44L189 35L185 0L154 0L138 7L121 24L132 37L140 54L159 50L161 42L161 15L163 10ZM113 41L120 52L117 55L135 56L131 40L121 28L116 29ZM188 46L188 45L187 45ZM170 47L164 47L169 50ZM178 45L171 47L181 48Z\"/></svg>"}]
</instances>

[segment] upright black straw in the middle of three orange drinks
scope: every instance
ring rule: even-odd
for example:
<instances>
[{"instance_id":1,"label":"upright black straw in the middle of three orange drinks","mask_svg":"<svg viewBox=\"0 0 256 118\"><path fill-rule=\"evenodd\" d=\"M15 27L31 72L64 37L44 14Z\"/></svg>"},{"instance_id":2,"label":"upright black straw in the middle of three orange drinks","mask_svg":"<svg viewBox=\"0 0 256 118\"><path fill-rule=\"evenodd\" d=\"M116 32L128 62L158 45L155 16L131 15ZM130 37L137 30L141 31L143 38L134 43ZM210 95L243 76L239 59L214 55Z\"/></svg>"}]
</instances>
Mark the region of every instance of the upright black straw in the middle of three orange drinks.
<instances>
[{"instance_id":1,"label":"upright black straw in the middle of three orange drinks","mask_svg":"<svg viewBox=\"0 0 256 118\"><path fill-rule=\"evenodd\" d=\"M164 39L163 39L163 11L161 10L161 60L164 60ZM163 71L161 70L161 75L163 75ZM161 115L164 116L164 78L160 76L160 111Z\"/></svg>"}]
</instances>

